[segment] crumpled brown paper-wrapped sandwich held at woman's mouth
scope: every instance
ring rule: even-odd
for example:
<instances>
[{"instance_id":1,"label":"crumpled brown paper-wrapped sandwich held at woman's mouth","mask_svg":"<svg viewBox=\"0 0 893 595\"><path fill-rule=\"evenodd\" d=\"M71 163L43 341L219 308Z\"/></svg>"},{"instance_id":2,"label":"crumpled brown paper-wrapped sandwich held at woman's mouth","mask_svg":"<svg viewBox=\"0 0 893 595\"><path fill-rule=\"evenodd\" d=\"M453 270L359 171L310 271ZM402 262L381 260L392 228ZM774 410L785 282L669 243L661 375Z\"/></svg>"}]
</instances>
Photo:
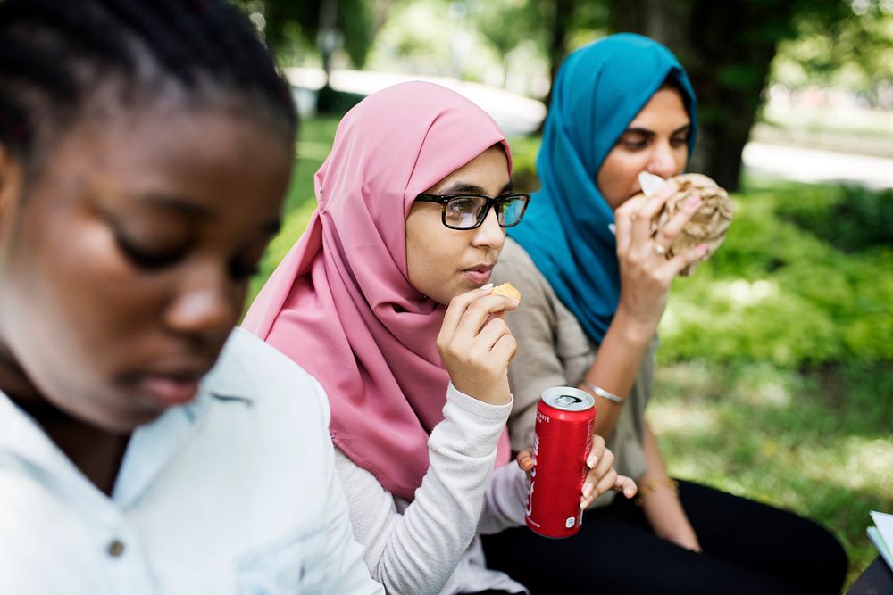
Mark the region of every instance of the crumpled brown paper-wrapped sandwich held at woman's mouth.
<instances>
[{"instance_id":1,"label":"crumpled brown paper-wrapped sandwich held at woman's mouth","mask_svg":"<svg viewBox=\"0 0 893 595\"><path fill-rule=\"evenodd\" d=\"M676 254L686 252L699 244L707 244L707 253L704 258L690 264L680 272L680 275L690 275L697 267L698 262L706 260L722 244L734 215L735 205L722 187L713 179L702 174L682 174L670 178L670 181L675 183L679 189L663 205L663 211L651 226L651 235L656 237L673 215L682 210L689 197L701 197L701 205L697 208L697 212L689 219L685 227L682 227L682 231L677 234L672 245L665 252L666 258L672 259Z\"/></svg>"}]
</instances>

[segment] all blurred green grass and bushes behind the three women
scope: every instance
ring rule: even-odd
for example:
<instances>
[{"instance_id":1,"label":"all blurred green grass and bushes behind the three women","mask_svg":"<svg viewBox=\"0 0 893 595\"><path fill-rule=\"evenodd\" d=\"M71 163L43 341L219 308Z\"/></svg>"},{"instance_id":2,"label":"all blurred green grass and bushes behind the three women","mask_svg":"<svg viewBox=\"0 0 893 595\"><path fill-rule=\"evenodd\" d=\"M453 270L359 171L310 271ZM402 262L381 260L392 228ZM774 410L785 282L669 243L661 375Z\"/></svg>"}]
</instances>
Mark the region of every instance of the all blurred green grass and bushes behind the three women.
<instances>
[{"instance_id":1,"label":"all blurred green grass and bushes behind the three women","mask_svg":"<svg viewBox=\"0 0 893 595\"><path fill-rule=\"evenodd\" d=\"M336 124L302 122L285 225L252 295L305 229ZM538 139L512 145L518 186L535 188ZM828 527L848 584L876 556L869 510L893 512L893 238L863 233L893 200L758 179L735 198L720 252L673 287L649 417L673 475Z\"/></svg>"}]
</instances>

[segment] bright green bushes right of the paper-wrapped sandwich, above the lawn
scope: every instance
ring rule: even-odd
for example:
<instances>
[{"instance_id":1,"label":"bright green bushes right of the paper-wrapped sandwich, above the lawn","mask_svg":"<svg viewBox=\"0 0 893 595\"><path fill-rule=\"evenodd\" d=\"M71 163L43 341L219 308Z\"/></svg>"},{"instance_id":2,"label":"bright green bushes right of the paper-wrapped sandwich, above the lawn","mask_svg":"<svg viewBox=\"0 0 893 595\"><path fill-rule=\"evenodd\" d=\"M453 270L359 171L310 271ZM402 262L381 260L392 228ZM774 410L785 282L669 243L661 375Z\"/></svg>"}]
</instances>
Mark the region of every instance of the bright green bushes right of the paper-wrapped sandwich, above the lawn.
<instances>
[{"instance_id":1,"label":"bright green bushes right of the paper-wrapped sandwich, above the lawn","mask_svg":"<svg viewBox=\"0 0 893 595\"><path fill-rule=\"evenodd\" d=\"M661 359L893 359L893 242L868 221L893 213L893 195L781 185L735 198L725 244L674 284Z\"/></svg>"}]
</instances>

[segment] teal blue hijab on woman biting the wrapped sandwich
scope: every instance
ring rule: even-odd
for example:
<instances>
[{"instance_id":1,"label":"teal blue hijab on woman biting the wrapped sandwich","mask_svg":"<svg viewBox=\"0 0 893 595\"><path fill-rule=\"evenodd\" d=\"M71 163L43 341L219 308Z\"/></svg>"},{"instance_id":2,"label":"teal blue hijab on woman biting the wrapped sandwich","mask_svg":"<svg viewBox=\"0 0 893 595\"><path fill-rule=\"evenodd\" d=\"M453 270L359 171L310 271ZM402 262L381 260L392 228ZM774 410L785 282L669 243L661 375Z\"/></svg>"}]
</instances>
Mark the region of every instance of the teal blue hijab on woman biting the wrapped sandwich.
<instances>
[{"instance_id":1,"label":"teal blue hijab on woman biting the wrapped sandwich","mask_svg":"<svg viewBox=\"0 0 893 595\"><path fill-rule=\"evenodd\" d=\"M682 89L695 146L697 101L663 45L631 33L605 37L567 57L552 91L537 158L540 190L523 223L508 230L595 342L611 324L620 272L614 216L596 187L598 170L638 112L667 79Z\"/></svg>"}]
</instances>

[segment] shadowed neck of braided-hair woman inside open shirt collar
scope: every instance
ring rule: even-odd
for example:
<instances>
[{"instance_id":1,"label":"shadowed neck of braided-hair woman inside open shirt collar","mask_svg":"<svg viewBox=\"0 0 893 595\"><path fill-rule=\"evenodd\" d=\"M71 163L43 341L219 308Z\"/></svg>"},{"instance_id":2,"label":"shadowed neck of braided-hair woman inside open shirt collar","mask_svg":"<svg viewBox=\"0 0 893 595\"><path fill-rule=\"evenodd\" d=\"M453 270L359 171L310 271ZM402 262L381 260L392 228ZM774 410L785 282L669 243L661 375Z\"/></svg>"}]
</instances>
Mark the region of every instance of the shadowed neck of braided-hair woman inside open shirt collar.
<instances>
[{"instance_id":1,"label":"shadowed neck of braided-hair woman inside open shirt collar","mask_svg":"<svg viewBox=\"0 0 893 595\"><path fill-rule=\"evenodd\" d=\"M0 343L0 390L35 422L88 480L111 494L129 434L114 434L71 417L47 400L13 353Z\"/></svg>"}]
</instances>

